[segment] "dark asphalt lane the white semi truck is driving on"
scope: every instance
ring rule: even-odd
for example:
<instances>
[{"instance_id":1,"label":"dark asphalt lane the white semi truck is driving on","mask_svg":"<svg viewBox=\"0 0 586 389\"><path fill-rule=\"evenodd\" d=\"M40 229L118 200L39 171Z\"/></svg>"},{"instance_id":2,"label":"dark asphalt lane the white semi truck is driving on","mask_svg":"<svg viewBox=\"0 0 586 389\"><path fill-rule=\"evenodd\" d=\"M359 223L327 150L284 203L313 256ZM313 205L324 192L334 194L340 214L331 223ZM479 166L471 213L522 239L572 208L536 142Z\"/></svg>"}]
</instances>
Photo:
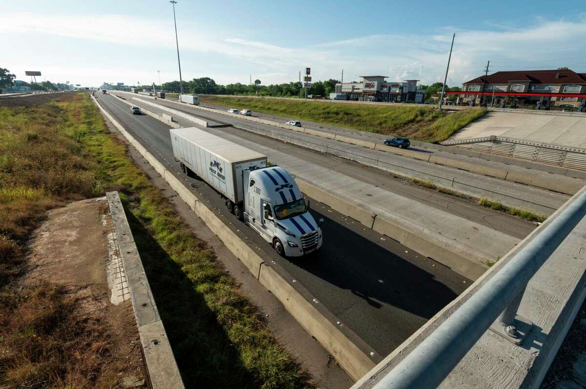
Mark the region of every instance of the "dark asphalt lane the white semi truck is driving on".
<instances>
[{"instance_id":1,"label":"dark asphalt lane the white semi truck is driving on","mask_svg":"<svg viewBox=\"0 0 586 389\"><path fill-rule=\"evenodd\" d=\"M315 200L312 214L325 219L322 249L303 258L278 256L257 233L227 213L222 199L209 185L181 173L173 158L168 126L147 115L132 115L129 106L110 95L96 95L104 108L170 171L221 210L227 223L232 223L231 228L244 230L248 239L264 250L269 266L297 280L314 295L318 305L325 306L359 336L366 346L357 346L367 354L374 351L375 362L471 284L440 263Z\"/></svg>"}]
</instances>

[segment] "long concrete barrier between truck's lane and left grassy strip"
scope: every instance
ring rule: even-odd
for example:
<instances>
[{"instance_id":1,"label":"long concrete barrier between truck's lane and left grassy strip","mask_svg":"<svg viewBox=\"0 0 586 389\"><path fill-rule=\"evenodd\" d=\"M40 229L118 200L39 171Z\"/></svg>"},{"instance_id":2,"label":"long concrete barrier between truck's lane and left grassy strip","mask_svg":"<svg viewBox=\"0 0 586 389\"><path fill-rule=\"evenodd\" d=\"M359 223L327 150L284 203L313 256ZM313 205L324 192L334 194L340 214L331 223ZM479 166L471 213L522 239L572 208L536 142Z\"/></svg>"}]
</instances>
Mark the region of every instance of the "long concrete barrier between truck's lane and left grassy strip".
<instances>
[{"instance_id":1,"label":"long concrete barrier between truck's lane and left grassy strip","mask_svg":"<svg viewBox=\"0 0 586 389\"><path fill-rule=\"evenodd\" d=\"M217 217L196 195L188 190L178 178L156 160L152 154L142 147L123 126L120 125L105 109L96 102L100 111L113 122L122 135L133 145L138 144L137 150L148 159L156 171L162 171L163 178L179 194L196 215L202 218L208 228L212 230L226 245L231 253L240 259L260 283L268 288L275 297L281 301L285 309L297 320L311 336L317 339L321 345L335 357L338 364L350 377L358 380L368 371L373 369L375 363L362 352L339 328L324 316L318 309L311 305L288 281L284 280L271 267L264 266L264 261L255 250L236 235L220 218ZM331 315L333 318L333 315Z\"/></svg>"}]
</instances>

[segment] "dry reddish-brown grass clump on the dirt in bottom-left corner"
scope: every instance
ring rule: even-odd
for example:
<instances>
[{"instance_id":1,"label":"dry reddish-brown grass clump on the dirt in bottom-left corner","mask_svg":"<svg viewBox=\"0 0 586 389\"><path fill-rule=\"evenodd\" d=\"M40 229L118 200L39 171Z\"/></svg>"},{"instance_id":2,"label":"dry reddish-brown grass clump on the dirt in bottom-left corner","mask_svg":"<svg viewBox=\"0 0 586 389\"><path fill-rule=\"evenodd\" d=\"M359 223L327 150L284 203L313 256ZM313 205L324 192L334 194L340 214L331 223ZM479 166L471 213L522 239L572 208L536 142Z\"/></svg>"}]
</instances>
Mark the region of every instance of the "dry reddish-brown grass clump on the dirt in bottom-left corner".
<instances>
[{"instance_id":1,"label":"dry reddish-brown grass clump on the dirt in bottom-left corner","mask_svg":"<svg viewBox=\"0 0 586 389\"><path fill-rule=\"evenodd\" d=\"M0 385L113 388L126 363L110 349L99 313L81 313L59 285L40 283L0 295Z\"/></svg>"}]
</instances>

